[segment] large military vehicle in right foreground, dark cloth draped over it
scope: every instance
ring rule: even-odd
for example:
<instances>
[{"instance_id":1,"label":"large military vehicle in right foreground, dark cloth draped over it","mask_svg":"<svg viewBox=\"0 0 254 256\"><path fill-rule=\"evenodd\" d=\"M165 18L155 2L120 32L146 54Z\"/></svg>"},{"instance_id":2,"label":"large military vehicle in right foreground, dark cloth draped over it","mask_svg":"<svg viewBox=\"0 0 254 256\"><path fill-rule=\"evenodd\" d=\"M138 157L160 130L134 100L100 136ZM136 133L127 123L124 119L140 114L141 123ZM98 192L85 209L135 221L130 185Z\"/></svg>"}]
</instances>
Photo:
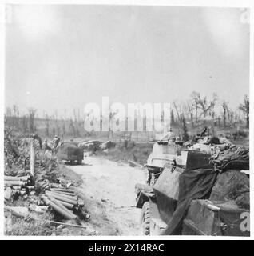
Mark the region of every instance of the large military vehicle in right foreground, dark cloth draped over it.
<instances>
[{"instance_id":1,"label":"large military vehicle in right foreground, dark cloth draped over it","mask_svg":"<svg viewBox=\"0 0 254 256\"><path fill-rule=\"evenodd\" d=\"M182 165L165 162L153 186L137 190L141 234L249 236L248 173L232 168L217 174L210 154L186 150L184 155ZM192 197L196 182L200 190ZM183 191L185 200L179 202Z\"/></svg>"}]
</instances>

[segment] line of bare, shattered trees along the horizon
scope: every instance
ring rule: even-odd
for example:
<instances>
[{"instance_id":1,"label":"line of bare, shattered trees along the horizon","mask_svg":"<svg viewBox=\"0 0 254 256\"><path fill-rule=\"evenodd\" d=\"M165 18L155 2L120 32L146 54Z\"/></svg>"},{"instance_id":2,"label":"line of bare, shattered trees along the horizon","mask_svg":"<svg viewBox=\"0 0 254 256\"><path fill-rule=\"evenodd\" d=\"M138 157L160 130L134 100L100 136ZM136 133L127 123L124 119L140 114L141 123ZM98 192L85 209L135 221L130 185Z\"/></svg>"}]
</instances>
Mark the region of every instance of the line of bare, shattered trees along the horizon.
<instances>
[{"instance_id":1,"label":"line of bare, shattered trees along the horizon","mask_svg":"<svg viewBox=\"0 0 254 256\"><path fill-rule=\"evenodd\" d=\"M46 137L57 134L58 136L89 136L91 134L85 132L84 122L80 117L79 111L73 110L73 117L58 118L58 112L53 115L44 113L43 118L36 117L37 110L29 108L26 114L20 114L18 106L6 108L5 122L12 126L15 130L22 133L40 133ZM109 109L109 120L116 113ZM164 113L161 113L163 118ZM244 96L243 102L236 110L229 107L229 102L219 100L216 94L212 97L203 96L199 92L193 91L189 99L185 102L174 101L170 113L171 124L181 126L183 130L187 130L186 122L189 122L192 128L203 125L209 121L214 126L234 128L239 124L249 127L249 98ZM110 137L112 131L109 128Z\"/></svg>"}]
</instances>

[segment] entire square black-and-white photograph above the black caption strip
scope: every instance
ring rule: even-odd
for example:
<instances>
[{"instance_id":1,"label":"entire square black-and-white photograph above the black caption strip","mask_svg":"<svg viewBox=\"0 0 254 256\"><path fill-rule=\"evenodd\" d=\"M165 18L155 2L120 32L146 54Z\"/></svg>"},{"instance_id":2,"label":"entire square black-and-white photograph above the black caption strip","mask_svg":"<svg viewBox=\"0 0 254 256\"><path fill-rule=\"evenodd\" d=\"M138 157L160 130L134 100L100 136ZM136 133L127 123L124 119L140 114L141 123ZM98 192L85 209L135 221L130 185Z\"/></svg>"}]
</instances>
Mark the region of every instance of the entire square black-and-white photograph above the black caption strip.
<instances>
[{"instance_id":1,"label":"entire square black-and-white photograph above the black caption strip","mask_svg":"<svg viewBox=\"0 0 254 256\"><path fill-rule=\"evenodd\" d=\"M251 6L208 3L2 5L5 238L250 238Z\"/></svg>"}]
</instances>

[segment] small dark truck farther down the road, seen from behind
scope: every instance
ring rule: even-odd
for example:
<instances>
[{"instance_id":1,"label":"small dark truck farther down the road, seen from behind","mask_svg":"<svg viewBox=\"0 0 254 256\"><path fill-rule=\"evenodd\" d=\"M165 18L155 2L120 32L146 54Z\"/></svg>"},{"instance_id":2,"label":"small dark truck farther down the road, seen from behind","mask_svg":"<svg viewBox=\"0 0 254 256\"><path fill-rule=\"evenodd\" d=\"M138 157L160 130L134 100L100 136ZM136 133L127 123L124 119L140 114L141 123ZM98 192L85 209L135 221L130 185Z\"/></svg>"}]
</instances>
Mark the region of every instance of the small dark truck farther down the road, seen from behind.
<instances>
[{"instance_id":1,"label":"small dark truck farther down the road, seen from behind","mask_svg":"<svg viewBox=\"0 0 254 256\"><path fill-rule=\"evenodd\" d=\"M78 165L81 165L84 159L84 150L75 142L62 142L56 150L56 155L59 160L70 162L70 164L77 162Z\"/></svg>"}]
</instances>

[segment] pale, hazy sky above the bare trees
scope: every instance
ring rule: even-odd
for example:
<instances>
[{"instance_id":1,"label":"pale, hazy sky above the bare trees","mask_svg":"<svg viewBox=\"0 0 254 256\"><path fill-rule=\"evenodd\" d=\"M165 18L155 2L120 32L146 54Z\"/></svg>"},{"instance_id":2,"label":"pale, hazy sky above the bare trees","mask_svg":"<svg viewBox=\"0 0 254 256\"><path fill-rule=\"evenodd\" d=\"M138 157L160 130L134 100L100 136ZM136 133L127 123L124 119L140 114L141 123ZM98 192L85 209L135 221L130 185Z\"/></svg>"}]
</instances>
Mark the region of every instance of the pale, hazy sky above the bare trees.
<instances>
[{"instance_id":1,"label":"pale, hazy sky above the bare trees","mask_svg":"<svg viewBox=\"0 0 254 256\"><path fill-rule=\"evenodd\" d=\"M236 108L249 87L240 9L12 6L6 106L58 114L88 102L173 102L193 90Z\"/></svg>"}]
</instances>

